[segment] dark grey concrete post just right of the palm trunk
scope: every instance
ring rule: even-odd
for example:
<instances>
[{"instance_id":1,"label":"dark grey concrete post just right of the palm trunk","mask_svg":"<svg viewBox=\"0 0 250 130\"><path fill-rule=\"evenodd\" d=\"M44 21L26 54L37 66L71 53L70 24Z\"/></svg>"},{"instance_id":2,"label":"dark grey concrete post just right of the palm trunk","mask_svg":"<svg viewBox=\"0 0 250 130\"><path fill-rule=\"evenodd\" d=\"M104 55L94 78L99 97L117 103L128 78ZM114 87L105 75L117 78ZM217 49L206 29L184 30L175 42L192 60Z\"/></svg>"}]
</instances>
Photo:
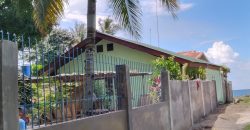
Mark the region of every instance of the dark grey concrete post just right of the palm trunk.
<instances>
[{"instance_id":1,"label":"dark grey concrete post just right of the palm trunk","mask_svg":"<svg viewBox=\"0 0 250 130\"><path fill-rule=\"evenodd\" d=\"M121 99L118 100L118 108L127 110L128 130L133 130L132 94L128 66L116 66L116 84L118 89L118 96L121 96Z\"/></svg>"}]
</instances>

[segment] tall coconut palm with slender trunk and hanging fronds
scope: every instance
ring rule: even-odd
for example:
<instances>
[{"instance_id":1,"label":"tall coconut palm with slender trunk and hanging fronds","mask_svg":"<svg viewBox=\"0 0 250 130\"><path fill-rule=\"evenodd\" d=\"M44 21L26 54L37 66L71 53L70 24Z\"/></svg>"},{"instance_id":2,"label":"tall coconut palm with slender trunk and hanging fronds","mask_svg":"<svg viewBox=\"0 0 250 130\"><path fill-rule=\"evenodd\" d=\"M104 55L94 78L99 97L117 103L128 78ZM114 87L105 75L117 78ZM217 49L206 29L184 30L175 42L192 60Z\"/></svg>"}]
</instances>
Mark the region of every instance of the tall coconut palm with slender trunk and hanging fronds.
<instances>
[{"instance_id":1,"label":"tall coconut palm with slender trunk and hanging fronds","mask_svg":"<svg viewBox=\"0 0 250 130\"><path fill-rule=\"evenodd\" d=\"M113 16L134 38L141 37L141 15L140 0L108 0L113 9ZM159 0L168 11L175 16L178 9L178 0ZM58 19L63 16L64 2L68 0L34 0L34 21L43 34L48 32L49 26L57 24ZM85 73L86 73L86 98L93 95L93 74L94 74L94 50L96 36L96 0L88 0L87 5L87 41L85 49ZM89 101L88 106L92 106ZM91 108L90 108L91 109Z\"/></svg>"}]
</instances>

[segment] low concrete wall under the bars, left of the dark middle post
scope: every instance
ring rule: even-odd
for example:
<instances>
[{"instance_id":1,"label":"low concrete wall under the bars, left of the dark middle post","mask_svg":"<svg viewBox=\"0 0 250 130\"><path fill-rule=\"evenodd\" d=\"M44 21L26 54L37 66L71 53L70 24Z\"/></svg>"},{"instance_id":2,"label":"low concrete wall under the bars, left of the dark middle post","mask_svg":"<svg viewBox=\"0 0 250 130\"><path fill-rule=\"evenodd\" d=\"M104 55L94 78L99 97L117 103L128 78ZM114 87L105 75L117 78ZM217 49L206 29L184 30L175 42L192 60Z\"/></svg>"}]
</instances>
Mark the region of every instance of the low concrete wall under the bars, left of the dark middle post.
<instances>
[{"instance_id":1,"label":"low concrete wall under the bars, left of the dark middle post","mask_svg":"<svg viewBox=\"0 0 250 130\"><path fill-rule=\"evenodd\" d=\"M126 111L117 111L37 130L128 130L128 126Z\"/></svg>"}]
</instances>

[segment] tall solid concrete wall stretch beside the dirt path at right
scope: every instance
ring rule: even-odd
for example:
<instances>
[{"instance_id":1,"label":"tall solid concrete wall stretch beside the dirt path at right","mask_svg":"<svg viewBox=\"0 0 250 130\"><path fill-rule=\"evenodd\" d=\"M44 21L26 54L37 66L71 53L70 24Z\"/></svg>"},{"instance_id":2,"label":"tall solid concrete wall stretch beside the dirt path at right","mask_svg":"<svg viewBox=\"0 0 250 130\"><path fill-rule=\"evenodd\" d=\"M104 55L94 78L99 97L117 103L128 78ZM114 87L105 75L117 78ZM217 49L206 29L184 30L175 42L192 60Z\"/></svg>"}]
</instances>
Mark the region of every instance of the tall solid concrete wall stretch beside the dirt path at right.
<instances>
[{"instance_id":1,"label":"tall solid concrete wall stretch beside the dirt path at right","mask_svg":"<svg viewBox=\"0 0 250 130\"><path fill-rule=\"evenodd\" d=\"M187 130L217 106L214 81L170 81L173 130Z\"/></svg>"}]
</instances>

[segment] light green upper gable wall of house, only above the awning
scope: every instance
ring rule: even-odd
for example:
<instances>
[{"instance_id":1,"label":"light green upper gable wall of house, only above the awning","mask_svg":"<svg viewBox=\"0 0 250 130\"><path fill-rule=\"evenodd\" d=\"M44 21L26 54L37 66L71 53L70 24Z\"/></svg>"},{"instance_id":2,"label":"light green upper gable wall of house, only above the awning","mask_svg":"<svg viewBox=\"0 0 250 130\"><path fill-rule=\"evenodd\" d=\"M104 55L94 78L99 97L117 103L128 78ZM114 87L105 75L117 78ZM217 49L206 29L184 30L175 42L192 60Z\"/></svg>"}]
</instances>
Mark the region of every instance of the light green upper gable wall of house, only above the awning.
<instances>
[{"instance_id":1,"label":"light green upper gable wall of house, only above the awning","mask_svg":"<svg viewBox=\"0 0 250 130\"><path fill-rule=\"evenodd\" d=\"M114 50L107 51L107 44L109 43L110 42L106 40L102 40L99 43L97 43L97 45L103 45L104 52L95 54L95 58L97 59L95 61L96 71L101 71L103 69L108 70L108 71L114 71L115 65L119 63L121 64L126 63L127 65L129 65L130 70L131 70L131 68L141 65L139 63L144 63L144 64L149 65L156 58L156 56L152 56L148 53L141 52L135 49L131 49L126 46L122 46L122 45L115 44L115 43L113 43ZM57 72L59 71L60 73L73 73L73 72L78 73L79 72L81 74L84 72L84 60L85 60L85 55L84 53L82 53L78 57L74 58L74 60L62 66L61 69L57 68ZM135 64L132 62L137 62L138 64ZM107 63L105 64L105 67L103 67L104 63ZM115 64L112 64L112 63L115 63Z\"/></svg>"}]
</instances>

